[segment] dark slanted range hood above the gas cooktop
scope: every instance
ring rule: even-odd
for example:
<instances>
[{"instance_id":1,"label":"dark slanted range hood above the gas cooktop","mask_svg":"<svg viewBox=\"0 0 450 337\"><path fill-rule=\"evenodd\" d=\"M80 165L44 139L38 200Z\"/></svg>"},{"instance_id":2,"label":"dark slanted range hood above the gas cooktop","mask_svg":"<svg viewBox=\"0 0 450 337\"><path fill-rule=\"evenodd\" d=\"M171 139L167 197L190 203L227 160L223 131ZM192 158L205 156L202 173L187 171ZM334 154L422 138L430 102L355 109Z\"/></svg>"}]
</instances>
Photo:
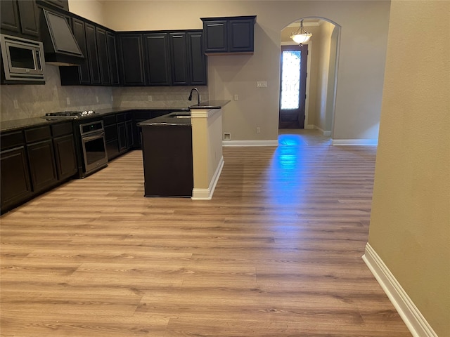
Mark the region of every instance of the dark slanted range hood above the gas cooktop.
<instances>
[{"instance_id":1,"label":"dark slanted range hood above the gas cooktop","mask_svg":"<svg viewBox=\"0 0 450 337\"><path fill-rule=\"evenodd\" d=\"M46 63L81 65L84 62L84 55L80 51L64 15L43 8L40 24Z\"/></svg>"}]
</instances>

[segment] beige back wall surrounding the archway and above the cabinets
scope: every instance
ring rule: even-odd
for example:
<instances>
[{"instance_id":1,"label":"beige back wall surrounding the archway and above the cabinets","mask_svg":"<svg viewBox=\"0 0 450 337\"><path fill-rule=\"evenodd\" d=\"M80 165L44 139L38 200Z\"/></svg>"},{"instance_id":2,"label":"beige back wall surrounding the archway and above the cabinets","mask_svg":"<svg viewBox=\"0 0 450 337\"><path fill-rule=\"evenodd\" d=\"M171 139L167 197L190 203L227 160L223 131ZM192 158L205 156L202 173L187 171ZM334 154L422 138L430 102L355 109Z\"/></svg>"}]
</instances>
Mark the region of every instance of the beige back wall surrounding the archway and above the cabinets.
<instances>
[{"instance_id":1,"label":"beige back wall surrounding the archway and above the cabinets","mask_svg":"<svg viewBox=\"0 0 450 337\"><path fill-rule=\"evenodd\" d=\"M334 138L378 138L387 1L103 1L103 9L105 25L115 30L199 29L202 17L257 15L253 55L208 57L210 98L239 97L223 116L233 140L277 138L283 27L309 16L336 22L342 30ZM268 87L256 88L256 81Z\"/></svg>"}]
</instances>

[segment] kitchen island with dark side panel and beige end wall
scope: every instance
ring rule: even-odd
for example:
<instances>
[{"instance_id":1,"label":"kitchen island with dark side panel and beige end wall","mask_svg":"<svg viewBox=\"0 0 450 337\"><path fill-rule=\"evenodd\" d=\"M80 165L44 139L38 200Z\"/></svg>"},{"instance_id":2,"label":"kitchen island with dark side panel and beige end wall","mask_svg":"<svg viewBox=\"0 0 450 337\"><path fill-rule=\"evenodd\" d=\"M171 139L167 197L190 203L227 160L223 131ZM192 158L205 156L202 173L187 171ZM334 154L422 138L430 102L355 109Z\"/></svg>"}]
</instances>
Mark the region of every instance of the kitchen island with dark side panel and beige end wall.
<instances>
[{"instance_id":1,"label":"kitchen island with dark side panel and beige end wall","mask_svg":"<svg viewBox=\"0 0 450 337\"><path fill-rule=\"evenodd\" d=\"M212 198L224 166L221 107L227 103L208 101L189 107L190 114L172 112L138 124L146 197Z\"/></svg>"}]
</instances>

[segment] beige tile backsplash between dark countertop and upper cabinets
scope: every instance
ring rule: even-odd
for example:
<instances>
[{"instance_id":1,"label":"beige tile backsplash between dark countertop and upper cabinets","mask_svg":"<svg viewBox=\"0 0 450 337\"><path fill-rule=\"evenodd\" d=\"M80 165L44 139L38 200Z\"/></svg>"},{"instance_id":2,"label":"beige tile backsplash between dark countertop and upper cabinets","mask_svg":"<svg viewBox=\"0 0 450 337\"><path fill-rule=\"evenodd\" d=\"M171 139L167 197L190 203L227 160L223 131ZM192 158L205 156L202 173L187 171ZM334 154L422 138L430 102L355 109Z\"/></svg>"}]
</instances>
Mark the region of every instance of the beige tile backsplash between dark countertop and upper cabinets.
<instances>
[{"instance_id":1,"label":"beige tile backsplash between dark countertop and upper cabinets","mask_svg":"<svg viewBox=\"0 0 450 337\"><path fill-rule=\"evenodd\" d=\"M188 107L192 87L61 86L59 69L46 65L45 85L11 84L0 87L0 119L10 121L44 116L46 112L99 110L110 107ZM198 86L201 101L208 100L207 86Z\"/></svg>"}]
</instances>

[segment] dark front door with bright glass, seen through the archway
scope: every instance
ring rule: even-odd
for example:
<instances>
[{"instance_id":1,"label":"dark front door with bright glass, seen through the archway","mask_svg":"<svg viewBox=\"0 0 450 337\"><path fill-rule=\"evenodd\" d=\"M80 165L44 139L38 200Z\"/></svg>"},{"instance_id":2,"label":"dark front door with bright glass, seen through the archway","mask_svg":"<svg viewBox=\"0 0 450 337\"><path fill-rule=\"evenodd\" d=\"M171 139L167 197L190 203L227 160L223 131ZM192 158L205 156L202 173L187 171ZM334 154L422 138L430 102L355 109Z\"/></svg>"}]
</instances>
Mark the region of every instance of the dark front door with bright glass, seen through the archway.
<instances>
[{"instance_id":1,"label":"dark front door with bright glass, seen through the archway","mask_svg":"<svg viewBox=\"0 0 450 337\"><path fill-rule=\"evenodd\" d=\"M308 46L281 46L278 128L304 128Z\"/></svg>"}]
</instances>

